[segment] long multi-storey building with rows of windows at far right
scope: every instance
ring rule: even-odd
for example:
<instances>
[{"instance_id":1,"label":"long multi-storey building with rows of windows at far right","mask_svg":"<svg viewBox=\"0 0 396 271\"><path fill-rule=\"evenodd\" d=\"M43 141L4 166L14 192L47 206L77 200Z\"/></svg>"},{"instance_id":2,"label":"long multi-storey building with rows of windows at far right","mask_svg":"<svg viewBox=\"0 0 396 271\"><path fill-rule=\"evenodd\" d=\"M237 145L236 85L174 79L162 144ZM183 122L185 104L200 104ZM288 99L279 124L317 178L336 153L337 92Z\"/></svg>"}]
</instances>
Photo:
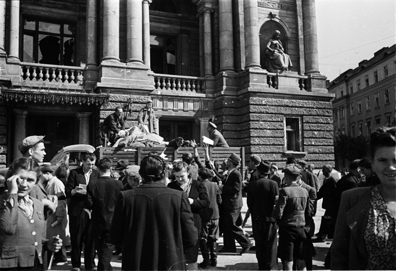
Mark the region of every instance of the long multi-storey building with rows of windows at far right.
<instances>
[{"instance_id":1,"label":"long multi-storey building with rows of windows at far right","mask_svg":"<svg viewBox=\"0 0 396 271\"><path fill-rule=\"evenodd\" d=\"M368 137L378 127L396 125L395 57L396 45L383 47L371 59L362 60L358 67L345 71L328 84L329 93L335 94L335 138Z\"/></svg>"}]
</instances>

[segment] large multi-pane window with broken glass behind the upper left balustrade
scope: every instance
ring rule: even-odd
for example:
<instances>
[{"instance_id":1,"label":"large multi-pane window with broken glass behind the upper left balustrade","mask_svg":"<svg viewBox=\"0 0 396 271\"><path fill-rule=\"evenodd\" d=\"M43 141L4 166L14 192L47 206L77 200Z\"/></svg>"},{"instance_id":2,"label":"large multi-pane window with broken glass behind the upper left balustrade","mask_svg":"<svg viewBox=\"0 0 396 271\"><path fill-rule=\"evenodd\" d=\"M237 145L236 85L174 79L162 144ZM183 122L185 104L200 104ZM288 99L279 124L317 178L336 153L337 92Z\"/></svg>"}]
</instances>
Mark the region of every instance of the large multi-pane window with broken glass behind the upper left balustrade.
<instances>
[{"instance_id":1,"label":"large multi-pane window with broken glass behind the upper left balustrade","mask_svg":"<svg viewBox=\"0 0 396 271\"><path fill-rule=\"evenodd\" d=\"M74 66L75 25L24 18L22 48L24 62Z\"/></svg>"}]
</instances>

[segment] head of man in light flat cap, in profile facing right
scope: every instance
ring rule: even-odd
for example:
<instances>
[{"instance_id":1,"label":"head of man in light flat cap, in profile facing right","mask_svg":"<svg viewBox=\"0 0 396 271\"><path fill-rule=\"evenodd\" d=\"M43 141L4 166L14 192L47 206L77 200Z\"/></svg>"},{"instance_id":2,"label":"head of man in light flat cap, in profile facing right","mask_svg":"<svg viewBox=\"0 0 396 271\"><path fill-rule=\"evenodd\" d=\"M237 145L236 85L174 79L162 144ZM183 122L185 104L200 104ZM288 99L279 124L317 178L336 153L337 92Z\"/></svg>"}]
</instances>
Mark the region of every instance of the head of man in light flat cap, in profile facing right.
<instances>
[{"instance_id":1,"label":"head of man in light flat cap, in profile facing right","mask_svg":"<svg viewBox=\"0 0 396 271\"><path fill-rule=\"evenodd\" d=\"M23 157L32 158L37 163L43 163L46 155L46 147L44 146L45 135L32 135L22 140L18 145L18 150Z\"/></svg>"}]
</instances>

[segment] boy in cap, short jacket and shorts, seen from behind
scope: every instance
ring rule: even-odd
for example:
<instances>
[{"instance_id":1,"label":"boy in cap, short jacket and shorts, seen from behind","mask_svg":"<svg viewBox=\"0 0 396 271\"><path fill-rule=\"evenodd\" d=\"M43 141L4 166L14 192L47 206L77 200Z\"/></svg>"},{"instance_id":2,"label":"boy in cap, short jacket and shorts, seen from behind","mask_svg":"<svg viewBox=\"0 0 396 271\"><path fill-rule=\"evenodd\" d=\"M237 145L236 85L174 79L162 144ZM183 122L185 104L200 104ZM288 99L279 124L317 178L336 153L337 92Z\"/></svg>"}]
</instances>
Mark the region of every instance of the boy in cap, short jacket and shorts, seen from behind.
<instances>
[{"instance_id":1,"label":"boy in cap, short jacket and shorts, seen from behind","mask_svg":"<svg viewBox=\"0 0 396 271\"><path fill-rule=\"evenodd\" d=\"M272 217L279 220L278 257L282 260L283 270L293 270L293 259L297 270L306 270L302 248L308 191L297 184L301 171L295 165L287 166L282 172L286 186L279 191L272 212Z\"/></svg>"}]
</instances>

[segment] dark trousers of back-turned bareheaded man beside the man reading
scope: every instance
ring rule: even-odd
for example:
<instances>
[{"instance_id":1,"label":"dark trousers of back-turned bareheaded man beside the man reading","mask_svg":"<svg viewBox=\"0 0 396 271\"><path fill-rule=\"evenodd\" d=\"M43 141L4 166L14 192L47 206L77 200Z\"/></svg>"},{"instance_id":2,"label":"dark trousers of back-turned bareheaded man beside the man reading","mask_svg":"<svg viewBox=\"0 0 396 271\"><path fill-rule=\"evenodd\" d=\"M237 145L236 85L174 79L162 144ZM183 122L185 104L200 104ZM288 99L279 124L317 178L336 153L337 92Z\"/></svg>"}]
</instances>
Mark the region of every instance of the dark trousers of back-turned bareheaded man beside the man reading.
<instances>
[{"instance_id":1,"label":"dark trousers of back-turned bareheaded man beside the man reading","mask_svg":"<svg viewBox=\"0 0 396 271\"><path fill-rule=\"evenodd\" d=\"M113 256L114 245L110 243L108 230L95 231L95 248L98 252L98 271L111 271L111 257Z\"/></svg>"}]
</instances>

